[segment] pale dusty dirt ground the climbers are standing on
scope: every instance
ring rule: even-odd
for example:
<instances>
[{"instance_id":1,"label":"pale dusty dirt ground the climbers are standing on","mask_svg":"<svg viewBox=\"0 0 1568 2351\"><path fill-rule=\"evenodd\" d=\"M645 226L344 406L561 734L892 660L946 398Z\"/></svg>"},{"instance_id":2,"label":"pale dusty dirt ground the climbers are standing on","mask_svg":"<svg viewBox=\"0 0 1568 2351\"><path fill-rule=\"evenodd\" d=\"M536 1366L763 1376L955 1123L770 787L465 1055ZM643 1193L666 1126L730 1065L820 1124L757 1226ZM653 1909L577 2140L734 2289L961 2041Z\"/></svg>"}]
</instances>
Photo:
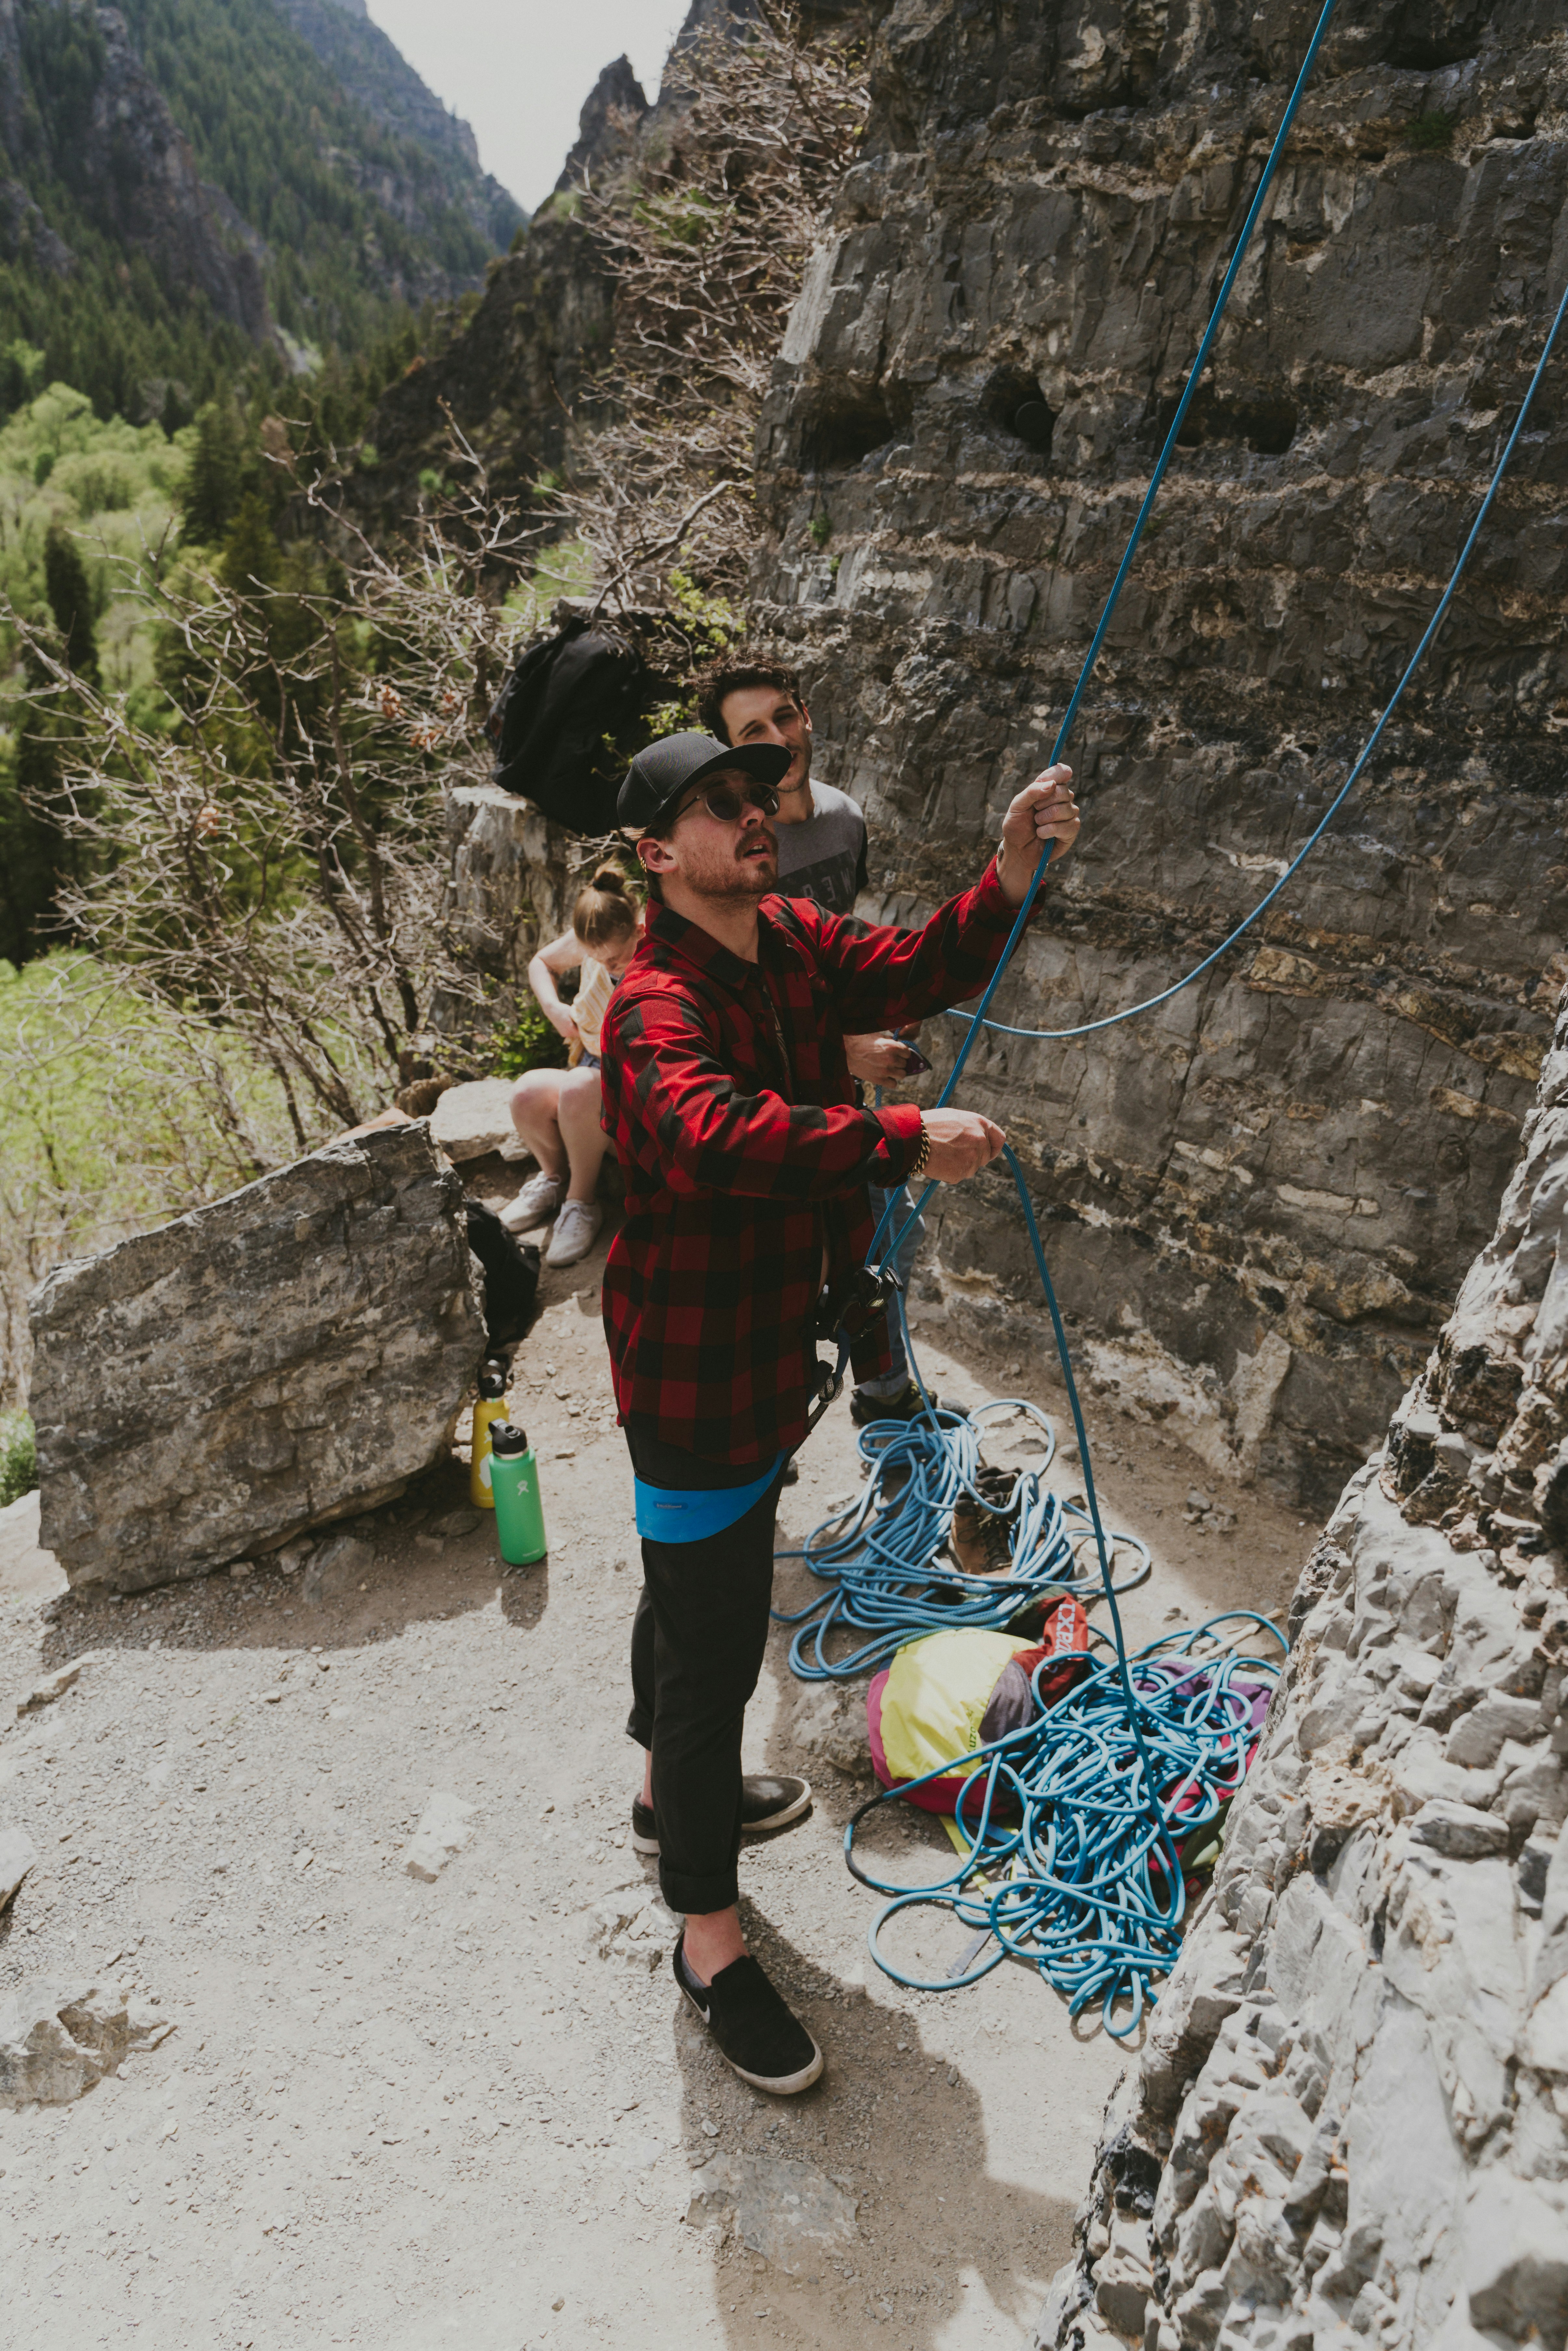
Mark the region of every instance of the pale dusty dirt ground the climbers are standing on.
<instances>
[{"instance_id":1,"label":"pale dusty dirt ground the climbers are standing on","mask_svg":"<svg viewBox=\"0 0 1568 2351\"><path fill-rule=\"evenodd\" d=\"M783 1632L748 1763L806 1770L816 1810L743 1855L745 1918L827 2050L825 2083L788 2104L750 2092L677 2005L628 1843L637 1554L599 1262L545 1279L512 1387L543 1455L545 1568L503 1578L489 1526L435 1533L465 1502L456 1467L360 1521L376 1566L317 1603L275 1568L92 1603L16 1528L0 1549L0 1721L40 1669L106 1653L0 1735L0 1820L42 1855L0 1921L0 2001L24 1980L118 1977L176 2022L75 2104L0 2114L19 2351L849 2351L867 2323L910 2351L1027 2342L1124 2057L1023 1968L922 1996L870 1965L875 1900L839 1850L870 1782L804 1744L823 1709ZM980 1361L922 1361L966 1404L1001 1385ZM1192 1455L1117 1420L1105 1436L1112 1523L1157 1552L1131 1634L1281 1606L1293 1516L1220 1491L1237 1531L1204 1535L1182 1519L1208 1483ZM839 1406L783 1538L856 1481ZM780 1603L804 1589L780 1570ZM433 1791L473 1806L473 1838L416 1883L404 1848ZM947 1850L931 1822L882 1841ZM929 1949L961 1942L945 1921ZM776 2259L722 2208L686 2217L715 2154L752 2182L741 2229L762 2210ZM853 2229L792 2236L799 2193Z\"/></svg>"}]
</instances>

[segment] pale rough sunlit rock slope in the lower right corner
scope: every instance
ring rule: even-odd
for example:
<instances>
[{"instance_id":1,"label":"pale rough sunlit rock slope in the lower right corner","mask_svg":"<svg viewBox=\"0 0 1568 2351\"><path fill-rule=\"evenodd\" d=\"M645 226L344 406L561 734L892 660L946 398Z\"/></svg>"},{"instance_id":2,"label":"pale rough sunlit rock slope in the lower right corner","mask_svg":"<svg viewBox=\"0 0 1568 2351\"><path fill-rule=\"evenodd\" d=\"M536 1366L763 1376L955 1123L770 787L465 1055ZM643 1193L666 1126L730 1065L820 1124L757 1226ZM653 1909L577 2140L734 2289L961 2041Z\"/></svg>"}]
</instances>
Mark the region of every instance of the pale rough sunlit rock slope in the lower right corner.
<instances>
[{"instance_id":1,"label":"pale rough sunlit rock slope in the lower right corner","mask_svg":"<svg viewBox=\"0 0 1568 2351\"><path fill-rule=\"evenodd\" d=\"M1039 2344L1568 2332L1568 999L1497 1234L1307 1561Z\"/></svg>"}]
</instances>

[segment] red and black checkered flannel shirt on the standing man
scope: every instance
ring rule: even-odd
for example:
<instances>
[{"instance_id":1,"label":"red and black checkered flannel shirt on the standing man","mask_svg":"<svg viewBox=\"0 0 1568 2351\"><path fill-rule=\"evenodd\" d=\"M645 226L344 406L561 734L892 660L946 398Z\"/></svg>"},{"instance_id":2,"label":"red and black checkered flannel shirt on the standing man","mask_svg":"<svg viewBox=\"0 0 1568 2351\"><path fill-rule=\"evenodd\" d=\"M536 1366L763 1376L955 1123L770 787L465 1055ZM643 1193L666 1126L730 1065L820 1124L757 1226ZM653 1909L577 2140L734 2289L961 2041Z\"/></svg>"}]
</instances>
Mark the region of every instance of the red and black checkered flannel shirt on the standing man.
<instances>
[{"instance_id":1,"label":"red and black checkered flannel shirt on the standing man","mask_svg":"<svg viewBox=\"0 0 1568 2351\"><path fill-rule=\"evenodd\" d=\"M844 1037L978 994L1006 943L994 868L924 931L811 898L764 898L757 964L649 907L604 1013L604 1131L625 1225L604 1267L621 1415L705 1460L766 1462L806 1434L823 1251L837 1288L865 1260L865 1185L898 1185L919 1110L860 1110ZM886 1371L872 1326L860 1380Z\"/></svg>"}]
</instances>

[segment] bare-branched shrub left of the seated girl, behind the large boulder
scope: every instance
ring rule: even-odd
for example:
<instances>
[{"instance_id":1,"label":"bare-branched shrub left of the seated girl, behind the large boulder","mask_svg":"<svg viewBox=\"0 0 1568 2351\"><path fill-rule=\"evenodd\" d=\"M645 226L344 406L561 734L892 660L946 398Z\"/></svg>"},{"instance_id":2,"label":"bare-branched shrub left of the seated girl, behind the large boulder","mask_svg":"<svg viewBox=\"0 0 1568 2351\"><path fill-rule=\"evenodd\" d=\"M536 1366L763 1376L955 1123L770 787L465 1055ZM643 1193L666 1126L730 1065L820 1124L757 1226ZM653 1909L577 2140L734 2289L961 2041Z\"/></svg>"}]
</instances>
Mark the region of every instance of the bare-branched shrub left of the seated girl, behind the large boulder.
<instances>
[{"instance_id":1,"label":"bare-branched shrub left of the seated girl, behind the large boulder","mask_svg":"<svg viewBox=\"0 0 1568 2351\"><path fill-rule=\"evenodd\" d=\"M482 943L447 917L444 785L489 771L484 719L527 628L496 581L527 550L470 473L395 560L261 534L254 569L230 548L221 576L143 583L172 715L101 694L16 623L92 872L61 915L108 980L186 1027L219 1117L209 1046L244 1039L296 1150L437 1049L461 1067L484 1025Z\"/></svg>"}]
</instances>

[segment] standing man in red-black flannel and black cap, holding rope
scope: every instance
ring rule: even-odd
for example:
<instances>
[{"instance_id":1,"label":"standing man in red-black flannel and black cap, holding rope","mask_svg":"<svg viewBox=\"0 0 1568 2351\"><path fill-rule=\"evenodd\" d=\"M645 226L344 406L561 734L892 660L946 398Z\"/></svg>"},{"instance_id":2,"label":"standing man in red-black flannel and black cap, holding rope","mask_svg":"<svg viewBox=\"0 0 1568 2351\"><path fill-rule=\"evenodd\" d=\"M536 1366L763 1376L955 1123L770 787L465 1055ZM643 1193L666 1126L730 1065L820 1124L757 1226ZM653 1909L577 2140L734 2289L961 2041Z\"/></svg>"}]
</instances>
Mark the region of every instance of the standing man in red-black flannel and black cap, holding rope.
<instances>
[{"instance_id":1,"label":"standing man in red-black flannel and black cap, holding rope","mask_svg":"<svg viewBox=\"0 0 1568 2351\"><path fill-rule=\"evenodd\" d=\"M823 2055L745 1954L736 1909L743 1829L780 1827L811 1796L741 1775L778 1486L818 1387L818 1321L835 1326L872 1241L867 1183L961 1183L1004 1143L969 1110L860 1110L844 1037L978 994L1039 844L1063 856L1079 828L1070 769L1048 769L1009 806L976 889L922 931L875 929L773 896L769 818L788 764L778 745L701 734L632 762L618 818L654 903L602 1027L604 1128L625 1176L604 1328L644 1563L632 1841L658 1853L665 1902L686 1921L677 1984L736 2071L780 2092L813 2083ZM856 1375L886 1359L875 1324Z\"/></svg>"}]
</instances>

